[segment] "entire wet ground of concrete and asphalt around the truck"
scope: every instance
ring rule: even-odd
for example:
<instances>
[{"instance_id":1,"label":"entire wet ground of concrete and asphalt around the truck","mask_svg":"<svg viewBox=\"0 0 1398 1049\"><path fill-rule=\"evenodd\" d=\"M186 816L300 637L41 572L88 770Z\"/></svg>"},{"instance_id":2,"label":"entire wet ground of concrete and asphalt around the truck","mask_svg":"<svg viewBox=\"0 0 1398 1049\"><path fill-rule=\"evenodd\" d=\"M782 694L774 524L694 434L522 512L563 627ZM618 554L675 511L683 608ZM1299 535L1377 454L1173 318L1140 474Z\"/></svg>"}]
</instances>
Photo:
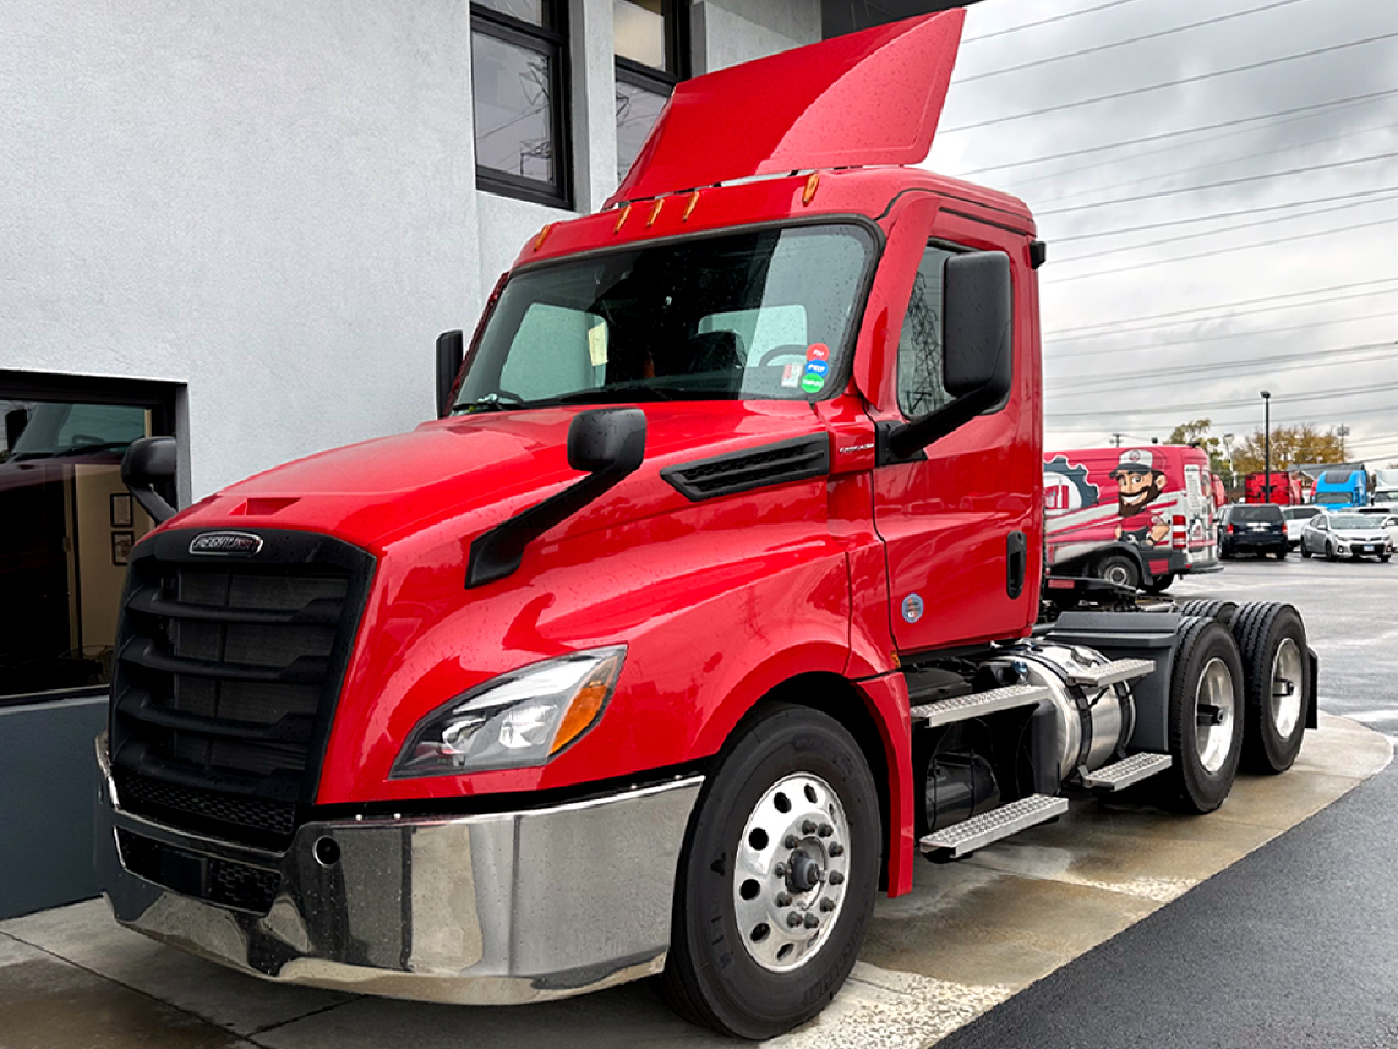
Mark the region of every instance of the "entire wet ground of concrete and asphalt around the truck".
<instances>
[{"instance_id":1,"label":"entire wet ground of concrete and asphalt around the truck","mask_svg":"<svg viewBox=\"0 0 1398 1049\"><path fill-rule=\"evenodd\" d=\"M1292 772L1240 778L1213 815L1089 800L921 866L913 894L879 904L835 1004L773 1045L1295 1043L1260 1015L1295 1017L1295 1031L1321 1017L1311 1029L1331 1046L1398 1031L1373 990L1398 971L1381 932L1398 927L1398 898L1369 881L1392 862L1381 835L1398 773L1380 769L1384 736L1398 737L1398 566L1240 558L1172 596L1296 604L1321 655L1321 709L1352 720L1323 716ZM1190 996L1208 1008L1180 1008ZM644 985L509 1010L273 986L127 933L102 901L0 925L0 1015L3 1049L727 1043Z\"/></svg>"}]
</instances>

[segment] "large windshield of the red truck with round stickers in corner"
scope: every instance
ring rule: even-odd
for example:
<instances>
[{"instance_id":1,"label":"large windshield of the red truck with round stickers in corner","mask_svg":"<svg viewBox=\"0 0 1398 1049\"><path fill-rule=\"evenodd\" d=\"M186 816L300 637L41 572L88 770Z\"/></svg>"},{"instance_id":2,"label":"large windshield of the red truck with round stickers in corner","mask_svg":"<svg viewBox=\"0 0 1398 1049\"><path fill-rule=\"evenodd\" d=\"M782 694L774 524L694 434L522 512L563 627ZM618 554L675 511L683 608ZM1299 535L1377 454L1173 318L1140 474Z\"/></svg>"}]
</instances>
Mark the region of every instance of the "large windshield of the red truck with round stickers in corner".
<instances>
[{"instance_id":1,"label":"large windshield of the red truck with round stickers in corner","mask_svg":"<svg viewBox=\"0 0 1398 1049\"><path fill-rule=\"evenodd\" d=\"M510 278L453 413L830 396L872 236L858 225L671 241Z\"/></svg>"}]
</instances>

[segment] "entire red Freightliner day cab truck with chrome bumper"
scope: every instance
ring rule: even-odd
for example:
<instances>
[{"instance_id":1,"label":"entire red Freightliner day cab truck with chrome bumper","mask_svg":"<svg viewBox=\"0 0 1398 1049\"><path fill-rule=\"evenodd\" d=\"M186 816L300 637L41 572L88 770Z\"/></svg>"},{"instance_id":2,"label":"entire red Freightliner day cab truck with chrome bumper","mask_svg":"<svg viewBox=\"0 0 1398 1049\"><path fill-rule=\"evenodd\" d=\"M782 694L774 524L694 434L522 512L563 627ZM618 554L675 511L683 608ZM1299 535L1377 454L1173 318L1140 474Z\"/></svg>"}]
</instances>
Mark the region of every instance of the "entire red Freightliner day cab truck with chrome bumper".
<instances>
[{"instance_id":1,"label":"entire red Freightliner day cab truck with chrome bumper","mask_svg":"<svg viewBox=\"0 0 1398 1049\"><path fill-rule=\"evenodd\" d=\"M439 341L439 420L173 518L173 446L133 448L169 519L96 747L117 920L435 1001L656 976L766 1038L918 853L1292 764L1290 607L1039 622L1044 249L1021 201L906 166L962 18L681 84L460 368Z\"/></svg>"}]
</instances>

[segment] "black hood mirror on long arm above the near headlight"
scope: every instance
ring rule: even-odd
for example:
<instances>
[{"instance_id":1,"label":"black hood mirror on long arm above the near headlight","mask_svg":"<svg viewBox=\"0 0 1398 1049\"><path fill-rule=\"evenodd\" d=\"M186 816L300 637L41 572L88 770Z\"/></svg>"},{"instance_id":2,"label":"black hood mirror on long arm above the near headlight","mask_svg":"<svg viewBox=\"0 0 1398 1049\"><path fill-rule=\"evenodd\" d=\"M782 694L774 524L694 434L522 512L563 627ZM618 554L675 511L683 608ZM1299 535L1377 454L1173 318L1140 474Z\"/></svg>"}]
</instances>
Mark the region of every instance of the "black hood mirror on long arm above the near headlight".
<instances>
[{"instance_id":1,"label":"black hood mirror on long arm above the near headlight","mask_svg":"<svg viewBox=\"0 0 1398 1049\"><path fill-rule=\"evenodd\" d=\"M575 415L568 427L568 464L587 476L477 536L466 566L466 589L509 576L520 566L524 547L614 488L644 459L646 413L640 408Z\"/></svg>"}]
</instances>

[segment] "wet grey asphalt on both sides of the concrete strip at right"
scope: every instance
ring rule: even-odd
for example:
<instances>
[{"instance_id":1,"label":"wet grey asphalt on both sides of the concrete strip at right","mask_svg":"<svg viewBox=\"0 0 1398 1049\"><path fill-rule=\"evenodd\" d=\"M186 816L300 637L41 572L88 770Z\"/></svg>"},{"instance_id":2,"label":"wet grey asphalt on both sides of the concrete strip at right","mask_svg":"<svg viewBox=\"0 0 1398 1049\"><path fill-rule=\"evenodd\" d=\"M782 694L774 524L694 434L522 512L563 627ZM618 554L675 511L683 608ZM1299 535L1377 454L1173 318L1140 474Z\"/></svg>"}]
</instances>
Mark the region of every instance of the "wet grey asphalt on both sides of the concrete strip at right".
<instances>
[{"instance_id":1,"label":"wet grey asphalt on both sides of the concrete strip at right","mask_svg":"<svg viewBox=\"0 0 1398 1049\"><path fill-rule=\"evenodd\" d=\"M1398 564L1240 558L1170 593L1295 604L1321 709L1398 740ZM937 1045L1398 1046L1398 766Z\"/></svg>"}]
</instances>

